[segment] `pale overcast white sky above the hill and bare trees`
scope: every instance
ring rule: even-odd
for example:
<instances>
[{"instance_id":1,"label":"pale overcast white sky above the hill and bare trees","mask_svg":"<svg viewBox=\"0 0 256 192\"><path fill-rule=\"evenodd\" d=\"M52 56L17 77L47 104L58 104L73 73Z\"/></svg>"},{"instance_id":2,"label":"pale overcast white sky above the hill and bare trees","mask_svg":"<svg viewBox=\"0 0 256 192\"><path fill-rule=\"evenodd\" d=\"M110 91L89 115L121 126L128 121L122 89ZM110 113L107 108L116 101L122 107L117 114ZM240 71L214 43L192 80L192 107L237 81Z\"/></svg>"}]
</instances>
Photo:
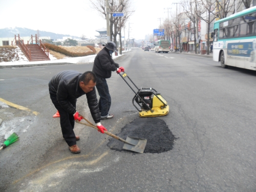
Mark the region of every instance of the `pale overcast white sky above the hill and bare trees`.
<instances>
[{"instance_id":1,"label":"pale overcast white sky above the hill and bare trees","mask_svg":"<svg viewBox=\"0 0 256 192\"><path fill-rule=\"evenodd\" d=\"M167 18L167 8L172 8L169 12L176 11L172 3L178 0L131 1L135 12L130 18L130 38L144 39L159 27L158 18ZM0 0L0 20L0 29L23 27L79 37L84 34L88 38L99 34L95 30L106 28L106 20L89 0ZM128 23L125 38L128 38Z\"/></svg>"}]
</instances>

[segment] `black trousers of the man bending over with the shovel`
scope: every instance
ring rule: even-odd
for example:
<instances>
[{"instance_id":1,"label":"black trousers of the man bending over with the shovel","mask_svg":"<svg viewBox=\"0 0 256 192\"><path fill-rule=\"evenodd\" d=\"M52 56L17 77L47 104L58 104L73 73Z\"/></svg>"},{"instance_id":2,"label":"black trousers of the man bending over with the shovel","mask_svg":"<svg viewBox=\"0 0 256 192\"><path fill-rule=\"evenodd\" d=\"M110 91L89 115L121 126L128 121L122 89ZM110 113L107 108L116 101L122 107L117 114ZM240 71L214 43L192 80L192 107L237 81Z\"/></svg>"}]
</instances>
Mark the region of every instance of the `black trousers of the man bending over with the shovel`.
<instances>
[{"instance_id":1,"label":"black trousers of the man bending over with the shovel","mask_svg":"<svg viewBox=\"0 0 256 192\"><path fill-rule=\"evenodd\" d=\"M76 135L73 131L75 126L75 119L73 114L69 114L62 106L59 104L56 95L51 94L50 98L55 108L58 110L60 115L60 127L62 131L62 136L69 146L76 144ZM76 99L70 100L70 103L76 108Z\"/></svg>"}]
</instances>

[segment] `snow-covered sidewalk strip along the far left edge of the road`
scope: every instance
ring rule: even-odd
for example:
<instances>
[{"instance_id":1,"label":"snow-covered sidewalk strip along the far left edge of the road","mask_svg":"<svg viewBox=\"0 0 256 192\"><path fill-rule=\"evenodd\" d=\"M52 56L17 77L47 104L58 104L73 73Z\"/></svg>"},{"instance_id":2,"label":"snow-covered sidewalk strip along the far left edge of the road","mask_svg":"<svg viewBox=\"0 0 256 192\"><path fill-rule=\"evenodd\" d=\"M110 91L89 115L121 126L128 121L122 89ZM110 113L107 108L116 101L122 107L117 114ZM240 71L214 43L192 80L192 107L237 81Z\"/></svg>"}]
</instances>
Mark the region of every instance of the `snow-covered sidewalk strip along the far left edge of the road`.
<instances>
[{"instance_id":1,"label":"snow-covered sidewalk strip along the far left edge of the road","mask_svg":"<svg viewBox=\"0 0 256 192\"><path fill-rule=\"evenodd\" d=\"M131 50L129 50L131 51ZM122 51L122 55L128 51ZM112 56L113 59L120 57ZM67 64L84 64L94 62L96 55L89 55L84 57L71 57L66 59L46 60L46 61L17 61L17 62L0 62L0 69L3 68L22 68L35 66L53 66L53 65L67 65Z\"/></svg>"}]
</instances>

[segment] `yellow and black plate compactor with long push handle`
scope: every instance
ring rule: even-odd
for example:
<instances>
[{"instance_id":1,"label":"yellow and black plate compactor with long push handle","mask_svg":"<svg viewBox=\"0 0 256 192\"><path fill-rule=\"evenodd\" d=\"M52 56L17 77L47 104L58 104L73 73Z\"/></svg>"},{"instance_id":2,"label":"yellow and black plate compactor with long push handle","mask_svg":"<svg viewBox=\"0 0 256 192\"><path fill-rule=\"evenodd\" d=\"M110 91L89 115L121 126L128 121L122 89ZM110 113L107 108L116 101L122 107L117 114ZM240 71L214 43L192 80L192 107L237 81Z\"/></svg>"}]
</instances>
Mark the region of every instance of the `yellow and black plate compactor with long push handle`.
<instances>
[{"instance_id":1,"label":"yellow and black plate compactor with long push handle","mask_svg":"<svg viewBox=\"0 0 256 192\"><path fill-rule=\"evenodd\" d=\"M119 73L119 75L135 93L135 96L133 97L133 105L139 111L140 117L157 117L168 114L169 106L167 105L167 101L155 89L139 89L125 72L122 74ZM137 92L134 91L130 84L125 80L126 77L138 89ZM140 109L134 104L134 101L140 106Z\"/></svg>"}]
</instances>

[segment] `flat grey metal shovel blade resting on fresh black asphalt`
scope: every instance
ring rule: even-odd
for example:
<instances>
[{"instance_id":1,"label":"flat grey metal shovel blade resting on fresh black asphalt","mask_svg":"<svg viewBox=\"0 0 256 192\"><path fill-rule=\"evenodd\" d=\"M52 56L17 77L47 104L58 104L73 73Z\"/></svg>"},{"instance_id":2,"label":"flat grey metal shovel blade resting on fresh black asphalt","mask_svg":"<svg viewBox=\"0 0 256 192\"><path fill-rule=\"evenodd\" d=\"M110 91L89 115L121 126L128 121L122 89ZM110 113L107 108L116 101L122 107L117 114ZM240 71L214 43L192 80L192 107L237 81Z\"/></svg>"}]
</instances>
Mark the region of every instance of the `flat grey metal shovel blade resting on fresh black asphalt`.
<instances>
[{"instance_id":1,"label":"flat grey metal shovel blade resting on fresh black asphalt","mask_svg":"<svg viewBox=\"0 0 256 192\"><path fill-rule=\"evenodd\" d=\"M126 137L126 141L131 144L124 143L123 149L129 150L137 153L143 153L146 147L146 139L141 139L137 137Z\"/></svg>"}]
</instances>

